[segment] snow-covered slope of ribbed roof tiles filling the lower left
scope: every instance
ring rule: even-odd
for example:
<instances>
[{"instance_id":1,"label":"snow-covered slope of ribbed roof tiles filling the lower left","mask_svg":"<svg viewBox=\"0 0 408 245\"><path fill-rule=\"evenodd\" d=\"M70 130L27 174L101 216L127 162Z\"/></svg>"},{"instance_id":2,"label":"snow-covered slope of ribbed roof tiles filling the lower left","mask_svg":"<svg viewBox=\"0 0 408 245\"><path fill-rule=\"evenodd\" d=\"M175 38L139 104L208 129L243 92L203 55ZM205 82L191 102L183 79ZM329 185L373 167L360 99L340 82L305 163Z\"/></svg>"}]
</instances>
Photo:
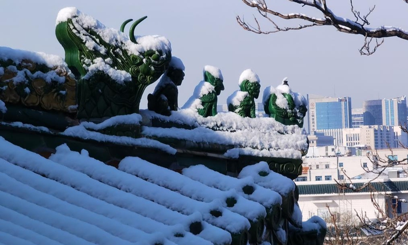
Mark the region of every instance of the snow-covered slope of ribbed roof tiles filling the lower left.
<instances>
[{"instance_id":1,"label":"snow-covered slope of ribbed roof tiles filling the lower left","mask_svg":"<svg viewBox=\"0 0 408 245\"><path fill-rule=\"evenodd\" d=\"M249 229L248 219L265 217L265 206L282 203L281 195L251 177L236 179L205 166L186 171L137 157L115 168L65 144L46 159L0 137L0 232L6 244L229 244L230 233ZM214 175L218 186L211 183ZM247 185L253 193L242 191ZM232 207L226 203L231 198ZM193 223L201 230L190 230Z\"/></svg>"}]
</instances>

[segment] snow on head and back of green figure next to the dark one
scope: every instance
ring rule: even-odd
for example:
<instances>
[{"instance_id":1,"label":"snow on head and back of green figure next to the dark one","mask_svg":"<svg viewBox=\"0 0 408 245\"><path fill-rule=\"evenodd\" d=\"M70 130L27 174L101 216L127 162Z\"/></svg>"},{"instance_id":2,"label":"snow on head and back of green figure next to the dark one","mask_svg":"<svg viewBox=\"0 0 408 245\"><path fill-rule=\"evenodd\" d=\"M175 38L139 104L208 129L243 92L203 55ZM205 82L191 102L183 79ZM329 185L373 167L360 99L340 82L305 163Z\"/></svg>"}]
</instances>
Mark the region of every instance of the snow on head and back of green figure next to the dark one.
<instances>
[{"instance_id":1,"label":"snow on head and back of green figure next to the dark one","mask_svg":"<svg viewBox=\"0 0 408 245\"><path fill-rule=\"evenodd\" d=\"M206 71L210 72L210 74L213 75L214 78L224 80L222 78L221 70L218 67L206 65L202 70L202 74L205 74ZM197 109L203 108L201 105L200 98L210 93L215 93L215 87L211 85L211 83L202 80L194 88L193 95L190 97L190 99L187 100L186 104L184 104L182 109L189 109L192 110L193 113L197 113L196 112Z\"/></svg>"}]
</instances>

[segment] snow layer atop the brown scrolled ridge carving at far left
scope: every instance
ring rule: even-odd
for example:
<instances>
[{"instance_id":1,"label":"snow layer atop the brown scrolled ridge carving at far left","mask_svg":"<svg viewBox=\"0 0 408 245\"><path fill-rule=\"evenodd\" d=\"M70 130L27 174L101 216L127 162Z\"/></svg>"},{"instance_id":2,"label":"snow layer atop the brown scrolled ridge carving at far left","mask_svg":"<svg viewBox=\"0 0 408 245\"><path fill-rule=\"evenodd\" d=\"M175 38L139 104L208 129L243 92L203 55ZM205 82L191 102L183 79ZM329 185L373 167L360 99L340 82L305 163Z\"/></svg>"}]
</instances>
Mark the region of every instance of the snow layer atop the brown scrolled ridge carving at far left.
<instances>
[{"instance_id":1,"label":"snow layer atop the brown scrolled ridge carving at far left","mask_svg":"<svg viewBox=\"0 0 408 245\"><path fill-rule=\"evenodd\" d=\"M68 74L69 76L73 76L64 60L55 55L48 55L41 52L14 50L13 48L0 46L0 61L7 60L11 60L13 64L7 67L1 67L0 76L3 76L6 70L14 72L16 75L11 79L14 84L27 83L28 79L26 76L31 80L41 78L47 83L64 83L65 77L60 76L60 74ZM33 68L35 68L36 64L46 65L51 70L45 73L39 70L32 73L31 71Z\"/></svg>"}]
</instances>

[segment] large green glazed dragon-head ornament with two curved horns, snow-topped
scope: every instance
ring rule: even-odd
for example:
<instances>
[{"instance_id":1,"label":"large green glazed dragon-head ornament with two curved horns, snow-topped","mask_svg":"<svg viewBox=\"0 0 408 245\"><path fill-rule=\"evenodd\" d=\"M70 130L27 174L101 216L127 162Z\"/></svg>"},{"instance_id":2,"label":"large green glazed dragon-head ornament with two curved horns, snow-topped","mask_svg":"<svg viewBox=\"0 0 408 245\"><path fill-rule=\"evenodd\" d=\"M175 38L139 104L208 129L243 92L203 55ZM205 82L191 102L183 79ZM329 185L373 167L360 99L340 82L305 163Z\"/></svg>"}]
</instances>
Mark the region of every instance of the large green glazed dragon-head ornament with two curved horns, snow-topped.
<instances>
[{"instance_id":1,"label":"large green glazed dragon-head ornament with two curved horns, snow-topped","mask_svg":"<svg viewBox=\"0 0 408 245\"><path fill-rule=\"evenodd\" d=\"M78 118L101 118L139 112L144 89L157 81L171 59L170 42L160 36L136 37L136 20L123 33L107 28L76 8L57 17L56 36L65 62L78 82Z\"/></svg>"}]
</instances>

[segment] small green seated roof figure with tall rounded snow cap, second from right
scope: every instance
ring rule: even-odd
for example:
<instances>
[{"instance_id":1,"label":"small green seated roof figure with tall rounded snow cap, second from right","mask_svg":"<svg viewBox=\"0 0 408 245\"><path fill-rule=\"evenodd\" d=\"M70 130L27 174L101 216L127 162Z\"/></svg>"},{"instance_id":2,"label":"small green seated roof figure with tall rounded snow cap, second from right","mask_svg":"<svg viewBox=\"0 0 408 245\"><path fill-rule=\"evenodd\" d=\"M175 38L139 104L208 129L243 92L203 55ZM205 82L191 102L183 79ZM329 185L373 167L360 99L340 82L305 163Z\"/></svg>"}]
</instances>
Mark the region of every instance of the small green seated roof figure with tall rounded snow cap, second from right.
<instances>
[{"instance_id":1,"label":"small green seated roof figure with tall rounded snow cap, second from right","mask_svg":"<svg viewBox=\"0 0 408 245\"><path fill-rule=\"evenodd\" d=\"M251 69L244 70L238 82L241 90L235 91L227 99L228 111L235 112L242 117L255 118L254 99L258 99L261 89L260 82L255 72Z\"/></svg>"}]
</instances>

